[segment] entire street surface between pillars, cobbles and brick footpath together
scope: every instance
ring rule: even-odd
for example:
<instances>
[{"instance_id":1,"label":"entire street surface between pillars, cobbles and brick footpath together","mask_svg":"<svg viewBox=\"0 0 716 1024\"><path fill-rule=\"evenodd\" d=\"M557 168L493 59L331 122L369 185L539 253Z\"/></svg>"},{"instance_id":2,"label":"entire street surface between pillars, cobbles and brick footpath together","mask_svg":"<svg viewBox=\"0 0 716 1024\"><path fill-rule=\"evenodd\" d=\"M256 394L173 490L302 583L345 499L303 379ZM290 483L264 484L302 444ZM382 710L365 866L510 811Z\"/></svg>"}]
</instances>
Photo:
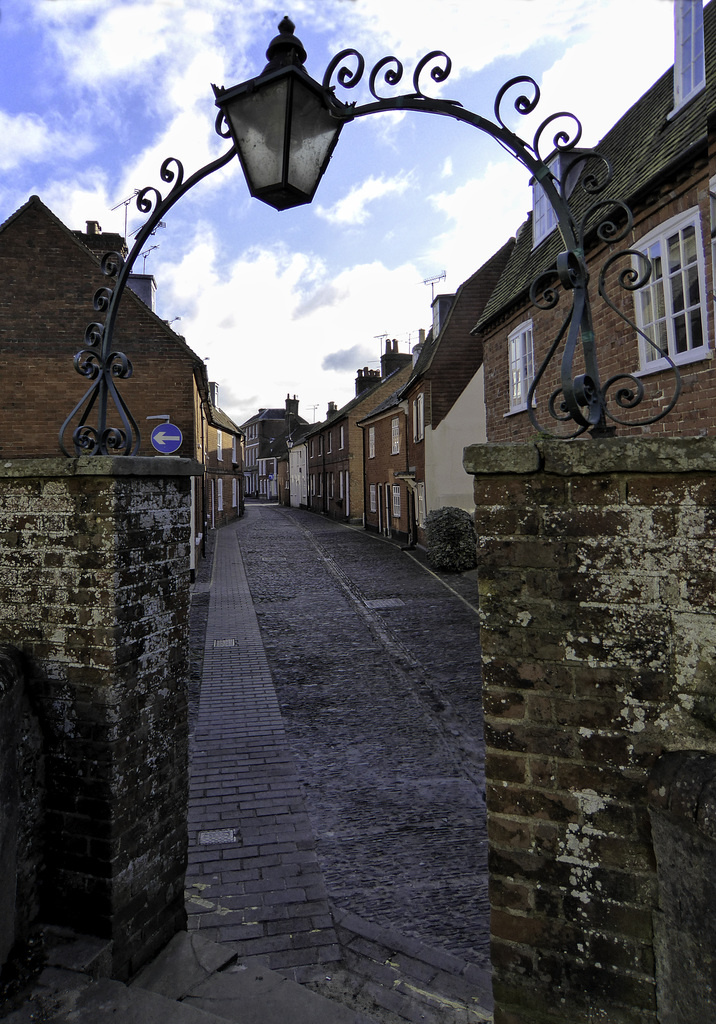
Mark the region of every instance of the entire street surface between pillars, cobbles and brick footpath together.
<instances>
[{"instance_id":1,"label":"entire street surface between pillars, cobbles and brick footpath together","mask_svg":"<svg viewBox=\"0 0 716 1024\"><path fill-rule=\"evenodd\" d=\"M276 505L214 537L189 927L367 1020L490 1019L473 574Z\"/></svg>"}]
</instances>

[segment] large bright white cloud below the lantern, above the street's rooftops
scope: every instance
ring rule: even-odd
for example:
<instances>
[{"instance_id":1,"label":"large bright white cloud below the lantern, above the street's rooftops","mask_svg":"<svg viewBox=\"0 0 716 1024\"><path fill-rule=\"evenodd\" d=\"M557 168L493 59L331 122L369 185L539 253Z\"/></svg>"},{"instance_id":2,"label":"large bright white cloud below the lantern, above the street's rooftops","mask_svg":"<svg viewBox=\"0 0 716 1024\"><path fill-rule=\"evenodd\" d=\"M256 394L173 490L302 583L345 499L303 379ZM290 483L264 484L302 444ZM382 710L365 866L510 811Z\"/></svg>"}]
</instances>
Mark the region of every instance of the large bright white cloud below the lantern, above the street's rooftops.
<instances>
[{"instance_id":1,"label":"large bright white cloud below the lantern, above the street's rooftops","mask_svg":"<svg viewBox=\"0 0 716 1024\"><path fill-rule=\"evenodd\" d=\"M304 415L313 402L324 415L329 398L343 404L354 393L357 362L336 362L336 351L349 349L361 366L378 366L381 335L398 338L405 351L409 335L417 341L424 326L416 323L416 307L429 318L412 264L389 270L376 261L332 276L311 253L261 248L222 265L208 228L177 263L164 261L157 276L160 315L182 317L181 333L208 357L222 408L239 423L258 406L281 403L288 391L298 394ZM322 288L335 290L341 301L317 303L297 316L306 296Z\"/></svg>"}]
</instances>

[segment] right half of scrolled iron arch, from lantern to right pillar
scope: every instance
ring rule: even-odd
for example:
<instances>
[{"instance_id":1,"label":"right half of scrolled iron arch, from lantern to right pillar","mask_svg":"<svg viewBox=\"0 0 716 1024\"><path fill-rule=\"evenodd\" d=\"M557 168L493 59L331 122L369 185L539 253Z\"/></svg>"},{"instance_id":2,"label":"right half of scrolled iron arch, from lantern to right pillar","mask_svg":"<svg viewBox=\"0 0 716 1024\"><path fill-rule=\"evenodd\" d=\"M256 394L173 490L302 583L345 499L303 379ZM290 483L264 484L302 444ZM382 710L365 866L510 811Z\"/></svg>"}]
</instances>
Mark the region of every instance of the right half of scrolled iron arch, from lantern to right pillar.
<instances>
[{"instance_id":1,"label":"right half of scrolled iron arch, from lantern to right pillar","mask_svg":"<svg viewBox=\"0 0 716 1024\"><path fill-rule=\"evenodd\" d=\"M352 66L349 60L352 61ZM494 121L465 110L455 100L431 98L422 90L420 78L425 69L435 60L439 60L440 63L432 68L430 77L434 82L445 82L452 70L450 58L441 51L433 50L418 62L413 78L412 93L381 98L376 85L378 79L382 76L384 83L394 88L399 85L404 76L403 65L396 57L384 57L374 66L369 76L369 89L375 102L343 105L336 99L336 116L340 117L341 111L346 112L344 116L353 119L380 111L415 110L455 118L491 135L542 185L557 217L564 248L551 266L540 271L530 289L530 297L538 308L545 310L553 309L564 292L571 293L572 303L535 374L529 391L528 412L537 430L552 433L538 419L536 392L549 376L548 368L560 347L563 347L563 352L558 371L559 383L551 391L546 409L551 420L570 425L572 429L568 433L555 433L555 436L576 437L586 431L591 431L595 435L610 433L614 428L608 426L609 420L614 423L642 426L662 419L673 409L678 398L680 390L678 369L668 353L662 351L647 335L625 316L606 294L606 272L617 259L631 255L634 259L645 260L642 254L632 250L608 256L599 275L599 295L622 319L658 351L660 357L665 359L675 376L674 391L670 400L654 415L638 420L625 419L619 412L613 411L610 404L616 404L618 411L636 409L645 397L643 383L630 373L616 374L604 383L599 376L585 246L588 236L593 236L607 245L615 245L627 237L633 222L631 211L623 201L612 197L604 198L605 189L614 179L609 161L597 151L579 148L583 134L582 124L568 111L558 111L544 118L534 132L532 141L527 141L509 128L508 108L525 117L534 114L540 102L540 87L528 75L510 79L498 91L494 103ZM324 77L324 86L333 92L335 86L332 82L335 76L337 85L353 89L361 82L365 68L366 61L357 50L342 50L329 65ZM515 90L517 90L516 96ZM546 140L548 145L545 144ZM555 154L560 161L558 174L550 166ZM585 200L593 200L591 203L587 202L586 207L584 202L574 204L570 201L571 186L576 187L577 184L580 195ZM629 271L623 273L619 279L622 287L630 291L643 287L650 273L650 268L647 269L645 264L643 265L644 272L636 278L630 278Z\"/></svg>"}]
</instances>

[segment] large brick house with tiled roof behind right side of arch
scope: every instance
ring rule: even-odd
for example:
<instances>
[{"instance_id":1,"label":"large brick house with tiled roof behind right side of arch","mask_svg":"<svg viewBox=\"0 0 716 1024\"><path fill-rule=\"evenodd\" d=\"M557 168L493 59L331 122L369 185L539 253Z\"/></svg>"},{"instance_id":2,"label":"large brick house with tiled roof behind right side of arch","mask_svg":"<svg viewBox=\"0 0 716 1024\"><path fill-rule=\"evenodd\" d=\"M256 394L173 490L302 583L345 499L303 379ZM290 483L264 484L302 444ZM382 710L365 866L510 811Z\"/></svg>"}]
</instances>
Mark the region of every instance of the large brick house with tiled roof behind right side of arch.
<instances>
[{"instance_id":1,"label":"large brick house with tiled roof behind right side of arch","mask_svg":"<svg viewBox=\"0 0 716 1024\"><path fill-rule=\"evenodd\" d=\"M701 4L680 4L675 10L677 19L682 14L698 18L702 12ZM609 409L628 421L618 425L620 435L700 435L716 430L716 4L706 6L703 16L705 46L701 68L694 65L692 70L698 83L692 95L680 94L682 56L677 50L676 73L671 69L663 75L597 146L615 171L602 197L624 200L634 216L633 227L621 243L606 244L591 231L585 246L601 380L635 373L646 391L642 404L627 413L616 407L617 388L610 389ZM694 53L698 57L698 47ZM590 201L577 183L571 203L578 216ZM488 437L494 441L534 435L527 392L568 307L568 296L552 309L537 308L530 301L531 283L555 263L562 248L556 229L538 244L534 232L533 214L520 228L505 272L475 329L485 344ZM631 324L596 294L599 269L625 248L646 253L654 264L650 282L638 293L620 288L618 282L622 271L638 266L635 257L618 260L606 275L606 294ZM550 283L556 283L556 276ZM669 352L682 379L675 409L647 425L634 421L665 406L673 394L674 378L636 328ZM536 412L550 431L557 424L546 407L558 386L557 373L557 367L550 368L537 392Z\"/></svg>"}]
</instances>

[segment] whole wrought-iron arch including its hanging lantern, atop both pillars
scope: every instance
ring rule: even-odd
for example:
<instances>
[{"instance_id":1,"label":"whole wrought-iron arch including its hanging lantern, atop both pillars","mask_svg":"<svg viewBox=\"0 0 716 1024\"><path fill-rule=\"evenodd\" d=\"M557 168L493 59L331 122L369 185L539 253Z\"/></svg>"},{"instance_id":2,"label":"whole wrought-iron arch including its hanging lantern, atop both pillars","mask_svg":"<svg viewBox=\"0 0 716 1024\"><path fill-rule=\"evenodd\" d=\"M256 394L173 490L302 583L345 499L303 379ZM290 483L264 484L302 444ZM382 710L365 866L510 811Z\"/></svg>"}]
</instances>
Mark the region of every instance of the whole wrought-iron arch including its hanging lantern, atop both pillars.
<instances>
[{"instance_id":1,"label":"whole wrought-iron arch including its hanging lantern, atop both pillars","mask_svg":"<svg viewBox=\"0 0 716 1024\"><path fill-rule=\"evenodd\" d=\"M607 420L632 426L644 425L661 419L673 409L680 391L680 378L674 361L668 352L625 315L607 294L606 273L625 257L629 263L619 274L620 286L635 291L646 284L651 266L648 259L636 250L627 249L608 257L599 275L598 291L612 309L638 332L655 355L670 365L675 381L673 393L656 415L638 421L623 419L621 411L634 410L644 396L641 381L629 373L617 374L603 383L600 381L587 287L586 241L598 238L614 244L624 240L631 230L632 215L624 202L608 196L607 186L614 176L609 161L597 151L578 147L582 126L573 114L562 111L547 117L532 141L520 138L507 127L503 103L515 87L519 87L513 103L517 114L529 115L537 108L540 89L534 79L519 76L507 82L497 94L495 120L491 121L466 110L456 100L425 94L422 81L426 75L436 83L445 82L450 75L452 63L441 50L431 51L418 62L413 75L413 90L398 95L381 96L377 91L379 80L381 88L385 85L393 89L399 85L404 74L403 65L396 57L383 57L369 76L373 99L360 106L339 100L335 95L336 86L332 84L334 75L337 85L346 89L355 88L362 81L366 62L357 50L345 49L338 53L331 60L323 83L319 84L303 67L305 49L294 35L292 22L286 17L279 26L279 35L269 44L266 56L268 63L257 78L229 89L213 87L219 108L216 131L222 138L233 140L231 147L185 181L181 163L174 158L165 160L161 177L171 183L171 190L166 198L162 198L153 186L139 191L137 208L150 216L137 233L131 252L126 261L118 253L108 253L103 257L102 271L110 278L116 278L116 284L114 289L100 288L95 293L94 308L107 313L104 323L89 325L85 332L85 348L75 356L76 370L92 383L60 429L59 443L66 455L69 452L64 437L78 417L79 422L72 433L76 455L136 455L139 450L138 427L115 383L116 379L130 377L132 366L124 353L113 349L112 337L118 305L134 261L167 211L189 188L223 167L235 155L239 156L249 190L255 198L277 210L310 203L343 125L366 115L391 111L450 117L490 135L540 183L554 210L563 249L556 261L533 283L530 295L539 308L552 309L558 304L561 294L568 294L572 306L535 374L528 395L528 412L535 427L544 429L545 426L537 418L534 402L536 390L560 346L562 357L558 386L553 389L545 408L555 421L568 424L571 432L561 436L575 437L587 431L592 434L613 432L614 428L607 425ZM543 152L544 148L547 152ZM549 163L555 151L560 156L559 177ZM581 186L581 198L577 202L574 200L577 193L575 179ZM570 201L567 182L573 189ZM581 372L576 372L576 367ZM115 418L119 418L121 426L109 425L110 402L114 404ZM89 423L92 412L96 413L96 426Z\"/></svg>"}]
</instances>

